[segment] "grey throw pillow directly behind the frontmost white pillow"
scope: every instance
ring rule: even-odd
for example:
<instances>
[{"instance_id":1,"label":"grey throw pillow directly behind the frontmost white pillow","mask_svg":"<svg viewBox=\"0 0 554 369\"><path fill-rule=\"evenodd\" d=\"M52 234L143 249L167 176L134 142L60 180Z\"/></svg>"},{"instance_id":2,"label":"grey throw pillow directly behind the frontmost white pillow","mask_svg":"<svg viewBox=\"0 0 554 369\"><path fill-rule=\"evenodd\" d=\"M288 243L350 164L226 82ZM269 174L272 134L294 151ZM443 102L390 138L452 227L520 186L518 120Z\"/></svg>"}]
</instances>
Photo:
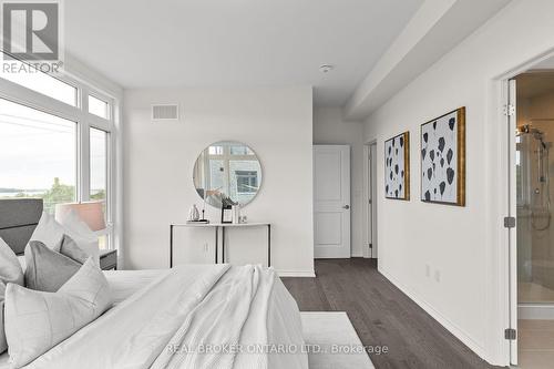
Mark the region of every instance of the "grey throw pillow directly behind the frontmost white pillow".
<instances>
[{"instance_id":1,"label":"grey throw pillow directly behind the frontmost white pillow","mask_svg":"<svg viewBox=\"0 0 554 369\"><path fill-rule=\"evenodd\" d=\"M32 240L25 247L27 288L55 293L81 268L81 263Z\"/></svg>"}]
</instances>

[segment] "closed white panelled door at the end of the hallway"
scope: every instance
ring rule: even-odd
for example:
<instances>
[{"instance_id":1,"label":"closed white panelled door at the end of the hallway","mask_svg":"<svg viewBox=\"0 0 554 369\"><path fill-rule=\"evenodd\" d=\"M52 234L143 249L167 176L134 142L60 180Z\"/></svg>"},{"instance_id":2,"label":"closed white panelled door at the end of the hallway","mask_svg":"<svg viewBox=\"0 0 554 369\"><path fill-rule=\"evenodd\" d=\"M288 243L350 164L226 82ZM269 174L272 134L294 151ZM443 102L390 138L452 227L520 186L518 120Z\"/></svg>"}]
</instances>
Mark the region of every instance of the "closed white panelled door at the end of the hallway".
<instances>
[{"instance_id":1,"label":"closed white panelled door at the end of the hallway","mask_svg":"<svg viewBox=\"0 0 554 369\"><path fill-rule=\"evenodd\" d=\"M314 146L314 256L350 257L350 146Z\"/></svg>"}]
</instances>

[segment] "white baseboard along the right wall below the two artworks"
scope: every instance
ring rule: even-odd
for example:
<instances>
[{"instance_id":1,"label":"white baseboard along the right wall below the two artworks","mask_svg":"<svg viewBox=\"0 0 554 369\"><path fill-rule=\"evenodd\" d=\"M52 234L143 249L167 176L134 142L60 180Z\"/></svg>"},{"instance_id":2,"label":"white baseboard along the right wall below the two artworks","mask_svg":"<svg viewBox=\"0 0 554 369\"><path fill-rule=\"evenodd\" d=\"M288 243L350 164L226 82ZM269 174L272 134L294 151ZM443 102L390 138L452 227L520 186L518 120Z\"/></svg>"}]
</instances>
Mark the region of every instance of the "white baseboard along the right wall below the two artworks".
<instances>
[{"instance_id":1,"label":"white baseboard along the right wall below the two artworks","mask_svg":"<svg viewBox=\"0 0 554 369\"><path fill-rule=\"evenodd\" d=\"M475 342L470 335L468 335L463 329L458 327L454 322L450 321L441 312L435 310L430 304L424 299L417 296L411 289L400 284L398 280L392 278L387 270L379 270L387 279L389 279L394 286L397 286L402 293L404 293L409 298L411 298L416 304L418 304L427 314L433 317L441 326L447 328L452 335L454 335L459 340L461 340L465 346L468 346L473 352L475 352L483 360L490 361L484 348Z\"/></svg>"}]
</instances>

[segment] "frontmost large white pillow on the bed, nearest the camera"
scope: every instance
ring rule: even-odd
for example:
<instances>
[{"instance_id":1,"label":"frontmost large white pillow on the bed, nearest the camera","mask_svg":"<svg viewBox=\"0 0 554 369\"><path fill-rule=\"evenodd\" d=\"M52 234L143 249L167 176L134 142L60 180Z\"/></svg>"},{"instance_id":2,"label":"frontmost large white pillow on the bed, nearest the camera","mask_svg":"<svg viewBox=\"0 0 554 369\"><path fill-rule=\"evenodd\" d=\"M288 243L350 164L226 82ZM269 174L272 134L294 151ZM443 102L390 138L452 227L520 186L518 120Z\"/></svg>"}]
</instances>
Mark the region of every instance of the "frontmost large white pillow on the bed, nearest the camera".
<instances>
[{"instance_id":1,"label":"frontmost large white pillow on the bed, nearest the camera","mask_svg":"<svg viewBox=\"0 0 554 369\"><path fill-rule=\"evenodd\" d=\"M8 284L4 318L10 362L14 368L31 362L111 305L107 280L91 258L57 293Z\"/></svg>"}]
</instances>

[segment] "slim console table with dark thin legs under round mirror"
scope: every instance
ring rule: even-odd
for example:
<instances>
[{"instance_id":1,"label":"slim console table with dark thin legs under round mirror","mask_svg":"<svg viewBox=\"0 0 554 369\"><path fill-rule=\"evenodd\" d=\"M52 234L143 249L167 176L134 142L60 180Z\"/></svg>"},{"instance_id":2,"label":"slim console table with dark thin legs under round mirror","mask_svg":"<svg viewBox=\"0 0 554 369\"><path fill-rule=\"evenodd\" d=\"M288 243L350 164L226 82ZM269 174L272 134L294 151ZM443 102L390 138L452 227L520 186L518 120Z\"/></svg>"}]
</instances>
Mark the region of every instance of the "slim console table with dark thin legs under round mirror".
<instances>
[{"instance_id":1,"label":"slim console table with dark thin legs under round mirror","mask_svg":"<svg viewBox=\"0 0 554 369\"><path fill-rule=\"evenodd\" d=\"M189 227L189 228L214 228L215 229L215 264L218 264L217 249L219 248L219 228L222 229L222 263L225 263L225 229L226 228L252 228L267 227L267 266L271 266L271 224L270 223L177 223L170 224L170 268L173 267L173 228Z\"/></svg>"}]
</instances>

